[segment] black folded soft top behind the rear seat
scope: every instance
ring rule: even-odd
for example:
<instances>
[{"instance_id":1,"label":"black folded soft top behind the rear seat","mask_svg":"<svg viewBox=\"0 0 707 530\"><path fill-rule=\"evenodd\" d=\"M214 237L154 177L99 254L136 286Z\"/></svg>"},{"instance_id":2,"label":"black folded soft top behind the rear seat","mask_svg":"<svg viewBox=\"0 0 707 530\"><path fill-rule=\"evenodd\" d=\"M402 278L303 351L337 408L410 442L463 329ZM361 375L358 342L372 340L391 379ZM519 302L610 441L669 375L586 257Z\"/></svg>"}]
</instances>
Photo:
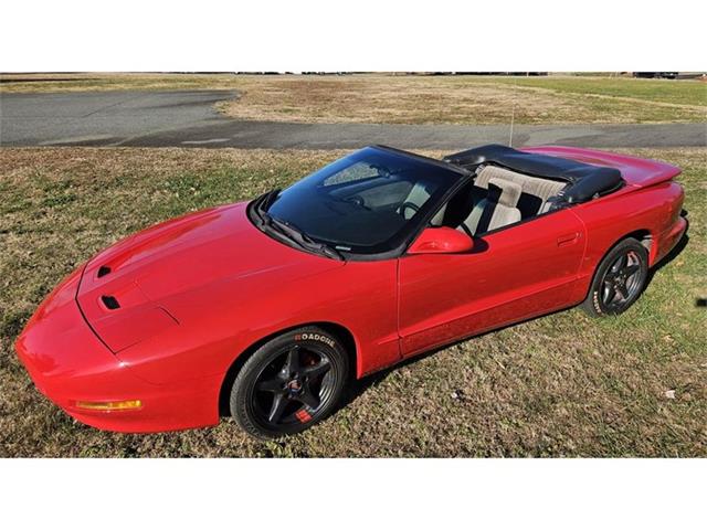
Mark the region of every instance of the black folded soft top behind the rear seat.
<instances>
[{"instance_id":1,"label":"black folded soft top behind the rear seat","mask_svg":"<svg viewBox=\"0 0 707 530\"><path fill-rule=\"evenodd\" d=\"M615 168L524 152L498 144L449 155L443 160L468 170L490 163L532 177L568 182L562 192L567 202L584 202L611 193L624 184L621 172Z\"/></svg>"}]
</instances>

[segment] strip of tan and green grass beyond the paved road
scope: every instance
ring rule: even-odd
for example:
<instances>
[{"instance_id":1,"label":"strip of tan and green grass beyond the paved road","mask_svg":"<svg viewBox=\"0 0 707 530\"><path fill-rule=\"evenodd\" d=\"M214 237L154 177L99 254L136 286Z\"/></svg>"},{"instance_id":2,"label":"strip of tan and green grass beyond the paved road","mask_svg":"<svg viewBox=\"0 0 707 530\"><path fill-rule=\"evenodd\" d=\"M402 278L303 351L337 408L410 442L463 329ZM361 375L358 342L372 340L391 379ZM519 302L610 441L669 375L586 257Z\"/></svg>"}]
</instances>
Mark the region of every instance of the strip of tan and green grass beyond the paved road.
<instances>
[{"instance_id":1,"label":"strip of tan and green grass beyond the paved road","mask_svg":"<svg viewBox=\"0 0 707 530\"><path fill-rule=\"evenodd\" d=\"M707 120L707 83L592 76L4 74L2 93L239 91L238 119L380 124L621 124Z\"/></svg>"}]
</instances>

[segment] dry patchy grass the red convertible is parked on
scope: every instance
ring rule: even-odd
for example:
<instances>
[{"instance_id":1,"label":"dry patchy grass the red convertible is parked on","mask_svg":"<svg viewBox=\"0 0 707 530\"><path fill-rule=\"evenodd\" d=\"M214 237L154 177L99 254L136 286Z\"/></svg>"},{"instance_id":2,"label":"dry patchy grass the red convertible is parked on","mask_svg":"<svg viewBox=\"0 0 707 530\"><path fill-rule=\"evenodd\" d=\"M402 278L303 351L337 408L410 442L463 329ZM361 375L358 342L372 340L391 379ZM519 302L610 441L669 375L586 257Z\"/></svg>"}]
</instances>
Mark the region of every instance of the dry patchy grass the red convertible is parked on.
<instances>
[{"instance_id":1,"label":"dry patchy grass the red convertible is parked on","mask_svg":"<svg viewBox=\"0 0 707 530\"><path fill-rule=\"evenodd\" d=\"M104 246L285 186L341 152L0 149L0 457L705 457L707 310L695 303L707 295L707 149L630 152L684 168L692 224L686 248L625 315L572 309L461 342L365 380L309 432L263 443L229 418L157 435L81 425L34 390L12 343L53 286Z\"/></svg>"}]
</instances>

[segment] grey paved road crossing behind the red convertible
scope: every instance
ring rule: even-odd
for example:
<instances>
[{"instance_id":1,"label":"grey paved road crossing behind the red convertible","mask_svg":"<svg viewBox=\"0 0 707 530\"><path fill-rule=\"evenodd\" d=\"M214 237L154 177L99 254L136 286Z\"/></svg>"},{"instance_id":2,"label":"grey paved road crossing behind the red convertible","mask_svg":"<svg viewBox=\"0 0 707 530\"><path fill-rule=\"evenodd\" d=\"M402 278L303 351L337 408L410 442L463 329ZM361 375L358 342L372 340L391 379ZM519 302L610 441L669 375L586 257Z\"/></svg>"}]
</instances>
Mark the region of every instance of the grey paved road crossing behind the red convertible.
<instances>
[{"instance_id":1,"label":"grey paved road crossing behind the red convertible","mask_svg":"<svg viewBox=\"0 0 707 530\"><path fill-rule=\"evenodd\" d=\"M0 145L464 149L509 138L509 126L238 121L214 110L234 97L230 91L2 94ZM521 125L513 144L707 146L707 124Z\"/></svg>"}]
</instances>

